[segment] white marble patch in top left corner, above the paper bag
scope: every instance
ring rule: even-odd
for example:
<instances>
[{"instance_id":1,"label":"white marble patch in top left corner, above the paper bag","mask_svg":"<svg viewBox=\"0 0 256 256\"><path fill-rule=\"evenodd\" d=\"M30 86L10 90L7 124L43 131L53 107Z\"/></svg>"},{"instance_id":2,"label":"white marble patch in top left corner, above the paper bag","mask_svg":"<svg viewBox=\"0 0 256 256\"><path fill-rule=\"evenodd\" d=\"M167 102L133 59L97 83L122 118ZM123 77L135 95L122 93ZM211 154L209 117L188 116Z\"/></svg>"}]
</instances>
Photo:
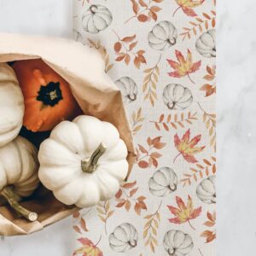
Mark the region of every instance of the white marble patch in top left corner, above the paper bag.
<instances>
[{"instance_id":1,"label":"white marble patch in top left corner, above the paper bag","mask_svg":"<svg viewBox=\"0 0 256 256\"><path fill-rule=\"evenodd\" d=\"M72 37L73 0L0 0L0 32Z\"/></svg>"}]
</instances>

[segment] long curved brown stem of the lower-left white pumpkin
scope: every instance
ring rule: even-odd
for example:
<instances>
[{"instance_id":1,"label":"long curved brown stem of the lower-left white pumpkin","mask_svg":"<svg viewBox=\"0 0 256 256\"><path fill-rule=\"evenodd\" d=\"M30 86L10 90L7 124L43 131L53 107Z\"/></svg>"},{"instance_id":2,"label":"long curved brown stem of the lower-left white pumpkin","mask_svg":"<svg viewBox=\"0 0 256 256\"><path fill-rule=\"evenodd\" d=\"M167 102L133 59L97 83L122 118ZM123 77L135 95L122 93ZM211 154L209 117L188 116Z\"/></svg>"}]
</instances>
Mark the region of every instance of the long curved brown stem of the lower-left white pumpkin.
<instances>
[{"instance_id":1,"label":"long curved brown stem of the lower-left white pumpkin","mask_svg":"<svg viewBox=\"0 0 256 256\"><path fill-rule=\"evenodd\" d=\"M38 219L38 213L37 212L31 212L27 210L24 207L21 207L19 202L17 201L17 195L11 189L11 187L5 187L0 191L0 195L2 195L8 202L10 207L12 207L17 213L20 213L21 216L24 218L35 221Z\"/></svg>"}]
</instances>

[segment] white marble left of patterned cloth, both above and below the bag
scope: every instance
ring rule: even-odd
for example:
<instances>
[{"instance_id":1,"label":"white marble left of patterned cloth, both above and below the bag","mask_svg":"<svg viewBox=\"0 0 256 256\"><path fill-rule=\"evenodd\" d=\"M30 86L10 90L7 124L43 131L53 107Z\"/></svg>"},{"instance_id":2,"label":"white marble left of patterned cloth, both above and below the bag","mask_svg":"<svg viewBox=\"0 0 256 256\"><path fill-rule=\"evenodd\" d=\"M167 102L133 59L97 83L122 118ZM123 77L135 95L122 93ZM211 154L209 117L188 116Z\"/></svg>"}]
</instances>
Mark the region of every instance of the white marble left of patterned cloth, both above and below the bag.
<instances>
[{"instance_id":1,"label":"white marble left of patterned cloth, both above and below the bag","mask_svg":"<svg viewBox=\"0 0 256 256\"><path fill-rule=\"evenodd\" d=\"M72 37L72 7L73 0L0 0L0 32ZM30 236L1 237L0 255L72 255L72 230L66 218Z\"/></svg>"}]
</instances>

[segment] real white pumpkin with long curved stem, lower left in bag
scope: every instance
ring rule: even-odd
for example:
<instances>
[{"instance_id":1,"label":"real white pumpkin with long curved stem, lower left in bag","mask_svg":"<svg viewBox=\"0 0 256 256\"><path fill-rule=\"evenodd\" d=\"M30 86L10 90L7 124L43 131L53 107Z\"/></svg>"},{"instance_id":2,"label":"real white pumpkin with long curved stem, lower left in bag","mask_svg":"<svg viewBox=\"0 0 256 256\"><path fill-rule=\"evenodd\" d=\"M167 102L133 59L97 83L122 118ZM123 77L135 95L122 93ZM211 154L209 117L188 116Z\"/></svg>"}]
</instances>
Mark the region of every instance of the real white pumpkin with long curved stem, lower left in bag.
<instances>
[{"instance_id":1,"label":"real white pumpkin with long curved stem, lower left in bag","mask_svg":"<svg viewBox=\"0 0 256 256\"><path fill-rule=\"evenodd\" d=\"M32 195L38 187L38 151L23 137L0 148L0 195L15 211L29 220L36 220L38 215L20 207L22 197Z\"/></svg>"}]
</instances>

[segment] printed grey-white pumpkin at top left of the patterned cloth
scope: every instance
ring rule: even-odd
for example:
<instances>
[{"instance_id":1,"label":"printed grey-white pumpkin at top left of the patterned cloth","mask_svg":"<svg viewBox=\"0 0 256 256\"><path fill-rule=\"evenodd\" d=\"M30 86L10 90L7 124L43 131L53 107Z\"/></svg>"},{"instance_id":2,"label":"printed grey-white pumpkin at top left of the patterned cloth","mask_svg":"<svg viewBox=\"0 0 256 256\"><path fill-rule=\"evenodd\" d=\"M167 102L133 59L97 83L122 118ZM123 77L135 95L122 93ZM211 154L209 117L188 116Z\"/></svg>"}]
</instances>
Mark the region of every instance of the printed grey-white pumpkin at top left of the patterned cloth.
<instances>
[{"instance_id":1,"label":"printed grey-white pumpkin at top left of the patterned cloth","mask_svg":"<svg viewBox=\"0 0 256 256\"><path fill-rule=\"evenodd\" d=\"M106 29L112 22L112 14L109 9L100 4L90 5L90 8L82 16L82 25L86 32L96 34Z\"/></svg>"}]
</instances>

